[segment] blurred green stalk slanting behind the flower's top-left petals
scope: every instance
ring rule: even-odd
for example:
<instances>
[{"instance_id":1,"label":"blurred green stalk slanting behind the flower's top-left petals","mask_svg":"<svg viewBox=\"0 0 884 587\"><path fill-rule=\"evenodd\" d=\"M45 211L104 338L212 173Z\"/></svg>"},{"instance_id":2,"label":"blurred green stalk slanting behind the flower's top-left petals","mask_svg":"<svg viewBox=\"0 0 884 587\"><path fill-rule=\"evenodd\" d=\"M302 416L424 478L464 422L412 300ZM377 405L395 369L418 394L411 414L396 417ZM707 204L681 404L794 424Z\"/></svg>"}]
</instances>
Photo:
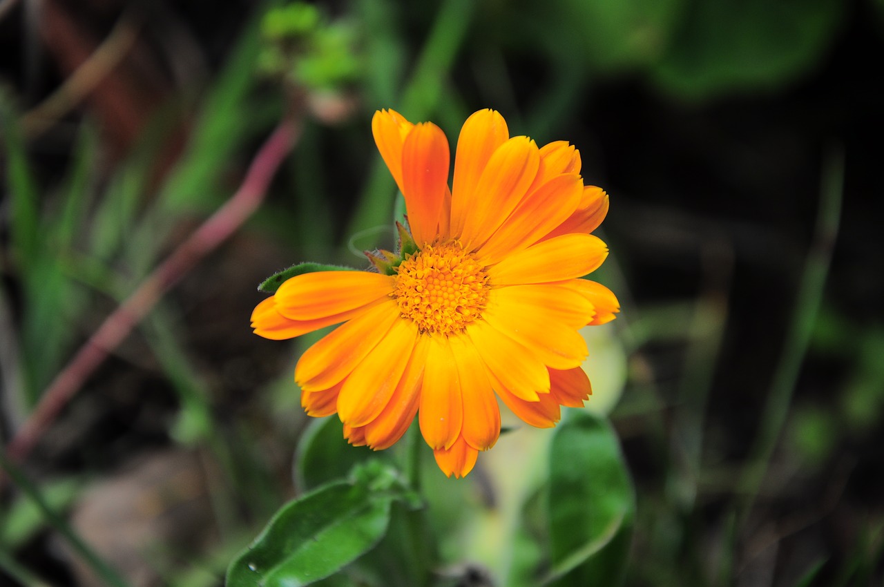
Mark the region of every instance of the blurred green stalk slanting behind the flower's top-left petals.
<instances>
[{"instance_id":1,"label":"blurred green stalk slanting behind the flower's top-left petals","mask_svg":"<svg viewBox=\"0 0 884 587\"><path fill-rule=\"evenodd\" d=\"M454 56L463 42L475 2L446 0L418 57L415 70L402 92L401 110L412 119L428 117L437 107L442 80L451 69ZM386 225L393 202L392 179L386 165L377 160L362 193L347 234Z\"/></svg>"}]
</instances>

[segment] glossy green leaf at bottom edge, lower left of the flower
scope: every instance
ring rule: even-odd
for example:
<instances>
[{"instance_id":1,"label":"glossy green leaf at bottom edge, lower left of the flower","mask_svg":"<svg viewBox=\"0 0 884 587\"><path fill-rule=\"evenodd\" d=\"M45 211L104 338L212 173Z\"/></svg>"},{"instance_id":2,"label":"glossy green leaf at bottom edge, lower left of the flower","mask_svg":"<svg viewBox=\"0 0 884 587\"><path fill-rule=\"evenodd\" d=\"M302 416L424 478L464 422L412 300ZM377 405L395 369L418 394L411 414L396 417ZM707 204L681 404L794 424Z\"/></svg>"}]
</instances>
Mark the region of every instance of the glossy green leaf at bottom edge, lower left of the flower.
<instances>
[{"instance_id":1,"label":"glossy green leaf at bottom edge, lower left of the flower","mask_svg":"<svg viewBox=\"0 0 884 587\"><path fill-rule=\"evenodd\" d=\"M227 569L227 587L300 587L338 572L384 537L393 502L413 499L380 462L282 507Z\"/></svg>"}]
</instances>

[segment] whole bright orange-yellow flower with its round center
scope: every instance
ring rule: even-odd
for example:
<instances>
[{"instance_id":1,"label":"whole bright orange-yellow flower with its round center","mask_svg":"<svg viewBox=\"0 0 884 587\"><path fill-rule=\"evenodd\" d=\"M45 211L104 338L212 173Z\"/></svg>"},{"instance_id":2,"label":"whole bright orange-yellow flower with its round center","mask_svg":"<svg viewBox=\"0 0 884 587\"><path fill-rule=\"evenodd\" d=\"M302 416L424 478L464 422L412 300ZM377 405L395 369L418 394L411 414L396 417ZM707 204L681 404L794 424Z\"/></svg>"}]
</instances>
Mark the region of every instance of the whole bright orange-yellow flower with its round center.
<instances>
[{"instance_id":1,"label":"whole bright orange-yellow flower with its round center","mask_svg":"<svg viewBox=\"0 0 884 587\"><path fill-rule=\"evenodd\" d=\"M578 330L619 310L610 290L581 279L607 255L590 233L608 197L583 186L573 146L510 138L496 111L464 123L450 190L438 126L392 110L371 126L405 196L410 239L398 255L370 255L378 271L288 279L258 304L252 325L289 339L343 323L295 368L307 413L337 412L350 443L375 449L392 446L417 415L439 468L465 476L498 439L495 393L538 427L589 398Z\"/></svg>"}]
</instances>

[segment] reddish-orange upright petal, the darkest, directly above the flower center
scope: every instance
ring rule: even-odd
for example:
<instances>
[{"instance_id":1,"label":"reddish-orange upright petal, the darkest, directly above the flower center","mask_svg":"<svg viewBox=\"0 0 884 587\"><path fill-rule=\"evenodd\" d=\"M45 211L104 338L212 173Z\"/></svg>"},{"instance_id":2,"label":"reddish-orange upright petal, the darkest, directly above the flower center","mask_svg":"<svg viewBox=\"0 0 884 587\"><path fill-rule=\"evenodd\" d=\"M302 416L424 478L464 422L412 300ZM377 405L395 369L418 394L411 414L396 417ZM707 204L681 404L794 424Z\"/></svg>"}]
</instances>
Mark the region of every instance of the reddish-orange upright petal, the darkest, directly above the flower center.
<instances>
[{"instance_id":1,"label":"reddish-orange upright petal, the darkest, directly above the flower center","mask_svg":"<svg viewBox=\"0 0 884 587\"><path fill-rule=\"evenodd\" d=\"M402 194L418 248L436 240L450 157L445 133L431 122L415 125L402 146Z\"/></svg>"}]
</instances>

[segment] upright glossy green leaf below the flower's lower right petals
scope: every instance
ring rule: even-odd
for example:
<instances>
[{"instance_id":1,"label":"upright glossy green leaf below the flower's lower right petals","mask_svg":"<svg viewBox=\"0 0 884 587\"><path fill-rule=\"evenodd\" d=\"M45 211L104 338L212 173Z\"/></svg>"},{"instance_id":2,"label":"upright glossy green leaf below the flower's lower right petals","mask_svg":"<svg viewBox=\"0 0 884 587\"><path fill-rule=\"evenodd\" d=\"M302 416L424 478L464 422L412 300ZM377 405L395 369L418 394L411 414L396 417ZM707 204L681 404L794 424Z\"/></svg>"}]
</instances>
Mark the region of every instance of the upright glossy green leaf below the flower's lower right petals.
<instances>
[{"instance_id":1,"label":"upright glossy green leaf below the flower's lower right petals","mask_svg":"<svg viewBox=\"0 0 884 587\"><path fill-rule=\"evenodd\" d=\"M573 411L552 438L550 463L552 572L545 584L620 584L636 498L611 425Z\"/></svg>"}]
</instances>

